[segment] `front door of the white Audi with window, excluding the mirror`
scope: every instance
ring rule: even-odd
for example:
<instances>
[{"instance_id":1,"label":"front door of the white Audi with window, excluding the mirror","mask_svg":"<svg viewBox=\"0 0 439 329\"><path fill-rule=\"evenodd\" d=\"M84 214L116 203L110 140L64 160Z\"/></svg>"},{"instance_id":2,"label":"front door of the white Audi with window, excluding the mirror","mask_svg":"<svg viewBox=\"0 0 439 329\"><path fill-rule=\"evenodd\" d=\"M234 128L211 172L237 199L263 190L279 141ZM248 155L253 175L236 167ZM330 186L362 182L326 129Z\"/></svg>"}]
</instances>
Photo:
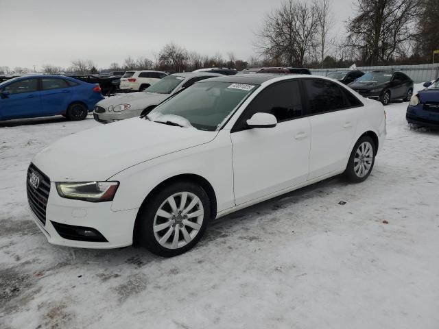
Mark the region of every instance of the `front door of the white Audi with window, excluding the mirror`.
<instances>
[{"instance_id":1,"label":"front door of the white Audi with window, excluding the mirror","mask_svg":"<svg viewBox=\"0 0 439 329\"><path fill-rule=\"evenodd\" d=\"M257 112L273 114L276 127L250 129ZM237 205L307 180L311 125L303 115L298 80L268 86L243 112L230 133Z\"/></svg>"}]
</instances>

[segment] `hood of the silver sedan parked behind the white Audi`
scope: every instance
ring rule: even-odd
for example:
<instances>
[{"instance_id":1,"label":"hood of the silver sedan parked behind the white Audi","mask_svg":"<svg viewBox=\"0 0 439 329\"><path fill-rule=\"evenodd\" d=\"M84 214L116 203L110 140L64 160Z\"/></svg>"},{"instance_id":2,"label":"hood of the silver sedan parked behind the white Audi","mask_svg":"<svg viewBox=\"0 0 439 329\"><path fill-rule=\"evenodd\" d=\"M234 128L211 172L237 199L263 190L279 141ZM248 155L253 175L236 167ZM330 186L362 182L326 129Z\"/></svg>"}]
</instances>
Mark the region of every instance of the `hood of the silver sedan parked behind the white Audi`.
<instances>
[{"instance_id":1,"label":"hood of the silver sedan parked behind the white Audi","mask_svg":"<svg viewBox=\"0 0 439 329\"><path fill-rule=\"evenodd\" d=\"M147 108L147 106L151 105L157 105L158 103L161 103L167 97L170 95L168 94L156 94L156 93L129 93L129 94L123 94L123 95L117 95L108 97L106 99L103 99L102 101L99 101L97 103L97 106L102 106L103 108L108 108L108 106L117 106L119 104L130 104L131 109L137 110L144 108Z\"/></svg>"}]
</instances>

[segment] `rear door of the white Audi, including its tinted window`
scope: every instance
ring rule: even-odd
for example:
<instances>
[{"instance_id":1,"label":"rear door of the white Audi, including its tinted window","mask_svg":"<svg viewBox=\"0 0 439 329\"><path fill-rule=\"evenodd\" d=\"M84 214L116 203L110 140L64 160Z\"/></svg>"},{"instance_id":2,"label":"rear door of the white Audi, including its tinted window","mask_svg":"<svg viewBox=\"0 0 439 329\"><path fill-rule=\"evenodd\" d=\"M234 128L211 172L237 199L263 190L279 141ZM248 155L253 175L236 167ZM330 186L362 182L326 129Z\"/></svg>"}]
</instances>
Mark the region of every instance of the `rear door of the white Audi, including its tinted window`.
<instances>
[{"instance_id":1,"label":"rear door of the white Audi, including its tinted window","mask_svg":"<svg viewBox=\"0 0 439 329\"><path fill-rule=\"evenodd\" d=\"M363 104L335 82L306 79L303 83L311 121L308 179L313 180L346 165L357 126L357 107Z\"/></svg>"}]
</instances>

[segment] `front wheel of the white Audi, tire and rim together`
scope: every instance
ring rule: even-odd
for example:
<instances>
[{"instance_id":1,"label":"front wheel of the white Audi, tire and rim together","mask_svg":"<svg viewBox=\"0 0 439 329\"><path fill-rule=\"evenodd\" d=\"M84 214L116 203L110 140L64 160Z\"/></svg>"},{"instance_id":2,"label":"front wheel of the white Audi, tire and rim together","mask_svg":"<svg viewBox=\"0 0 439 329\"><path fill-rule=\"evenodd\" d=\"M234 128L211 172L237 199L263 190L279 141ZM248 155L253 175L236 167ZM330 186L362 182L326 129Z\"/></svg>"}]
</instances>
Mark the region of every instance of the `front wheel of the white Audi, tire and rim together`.
<instances>
[{"instance_id":1,"label":"front wheel of the white Audi, tire and rim together","mask_svg":"<svg viewBox=\"0 0 439 329\"><path fill-rule=\"evenodd\" d=\"M182 205L184 195L186 200ZM175 204L168 201L171 199ZM194 214L195 217L187 217ZM211 201L201 186L176 182L161 188L143 204L137 218L134 241L158 256L183 254L200 241L210 214Z\"/></svg>"}]
</instances>

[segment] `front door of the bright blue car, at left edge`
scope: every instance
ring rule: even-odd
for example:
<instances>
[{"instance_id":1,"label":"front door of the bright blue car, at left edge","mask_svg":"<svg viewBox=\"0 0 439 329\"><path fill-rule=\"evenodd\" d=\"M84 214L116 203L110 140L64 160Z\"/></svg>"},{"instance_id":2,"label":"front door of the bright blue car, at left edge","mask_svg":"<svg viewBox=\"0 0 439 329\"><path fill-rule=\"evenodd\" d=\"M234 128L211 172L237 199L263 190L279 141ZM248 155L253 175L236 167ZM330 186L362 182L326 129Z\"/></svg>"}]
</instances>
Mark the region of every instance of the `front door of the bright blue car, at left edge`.
<instances>
[{"instance_id":1,"label":"front door of the bright blue car, at left edge","mask_svg":"<svg viewBox=\"0 0 439 329\"><path fill-rule=\"evenodd\" d=\"M0 89L3 92L8 94L0 98L0 120L42 116L38 78L12 82Z\"/></svg>"}]
</instances>

